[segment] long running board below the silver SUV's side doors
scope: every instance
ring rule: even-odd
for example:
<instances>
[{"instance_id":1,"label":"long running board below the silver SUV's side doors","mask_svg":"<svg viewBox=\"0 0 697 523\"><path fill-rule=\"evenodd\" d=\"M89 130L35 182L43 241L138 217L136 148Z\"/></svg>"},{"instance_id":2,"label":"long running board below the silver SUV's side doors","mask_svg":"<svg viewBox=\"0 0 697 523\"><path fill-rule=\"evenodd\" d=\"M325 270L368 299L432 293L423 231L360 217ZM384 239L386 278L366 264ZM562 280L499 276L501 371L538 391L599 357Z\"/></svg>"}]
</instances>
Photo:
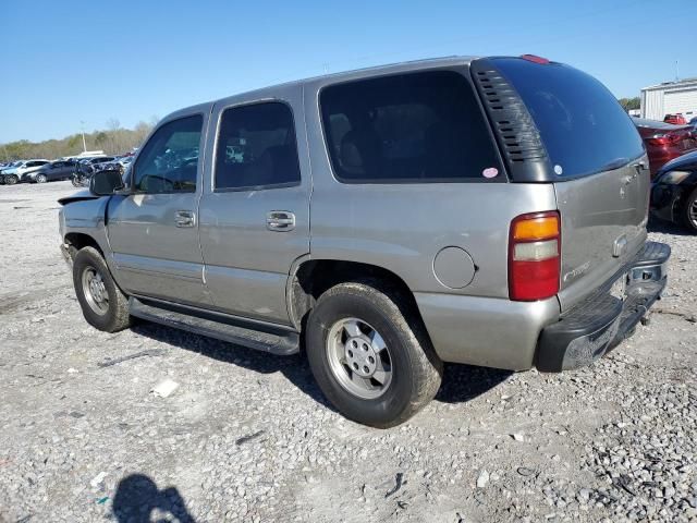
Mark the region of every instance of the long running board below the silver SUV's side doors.
<instances>
[{"instance_id":1,"label":"long running board below the silver SUV's side doors","mask_svg":"<svg viewBox=\"0 0 697 523\"><path fill-rule=\"evenodd\" d=\"M299 352L299 336L294 331L277 331L276 333L253 330L228 321L192 316L175 311L158 307L154 302L143 303L137 297L129 299L129 312L136 318L146 319L167 327L186 330L217 340L228 341L257 351L278 355L290 355ZM222 317L221 317L222 319Z\"/></svg>"}]
</instances>

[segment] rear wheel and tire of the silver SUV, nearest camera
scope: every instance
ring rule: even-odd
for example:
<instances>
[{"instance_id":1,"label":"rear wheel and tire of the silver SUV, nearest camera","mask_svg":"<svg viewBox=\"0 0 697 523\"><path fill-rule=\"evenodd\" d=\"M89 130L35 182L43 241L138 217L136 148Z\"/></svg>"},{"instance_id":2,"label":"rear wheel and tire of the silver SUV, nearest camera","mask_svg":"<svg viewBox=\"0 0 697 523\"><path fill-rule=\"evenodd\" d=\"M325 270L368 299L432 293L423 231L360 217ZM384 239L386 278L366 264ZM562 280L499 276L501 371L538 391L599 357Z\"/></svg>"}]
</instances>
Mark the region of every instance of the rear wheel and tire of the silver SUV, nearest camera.
<instances>
[{"instance_id":1,"label":"rear wheel and tire of the silver SUV, nearest camera","mask_svg":"<svg viewBox=\"0 0 697 523\"><path fill-rule=\"evenodd\" d=\"M309 314L305 340L313 375L350 419L379 428L399 425L440 388L442 363L406 303L394 289L366 279L332 287ZM378 351L379 345L386 349ZM368 367L370 358L376 368Z\"/></svg>"}]
</instances>

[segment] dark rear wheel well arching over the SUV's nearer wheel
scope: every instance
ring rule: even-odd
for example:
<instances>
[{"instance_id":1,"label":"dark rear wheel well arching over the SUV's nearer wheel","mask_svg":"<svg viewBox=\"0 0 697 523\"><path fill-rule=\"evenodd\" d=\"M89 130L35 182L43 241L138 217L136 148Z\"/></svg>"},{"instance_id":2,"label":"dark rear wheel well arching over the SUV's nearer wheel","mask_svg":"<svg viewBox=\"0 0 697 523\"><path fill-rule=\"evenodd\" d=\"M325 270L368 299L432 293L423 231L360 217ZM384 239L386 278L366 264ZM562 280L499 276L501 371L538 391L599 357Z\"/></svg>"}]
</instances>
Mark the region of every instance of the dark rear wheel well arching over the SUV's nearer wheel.
<instances>
[{"instance_id":1,"label":"dark rear wheel well arching over the SUV's nearer wheel","mask_svg":"<svg viewBox=\"0 0 697 523\"><path fill-rule=\"evenodd\" d=\"M398 275L376 265L334 259L308 260L298 267L291 288L291 319L296 327L301 327L325 291L338 283L360 278L375 278L388 283L403 299L401 305L407 306L421 319L414 293Z\"/></svg>"}]
</instances>

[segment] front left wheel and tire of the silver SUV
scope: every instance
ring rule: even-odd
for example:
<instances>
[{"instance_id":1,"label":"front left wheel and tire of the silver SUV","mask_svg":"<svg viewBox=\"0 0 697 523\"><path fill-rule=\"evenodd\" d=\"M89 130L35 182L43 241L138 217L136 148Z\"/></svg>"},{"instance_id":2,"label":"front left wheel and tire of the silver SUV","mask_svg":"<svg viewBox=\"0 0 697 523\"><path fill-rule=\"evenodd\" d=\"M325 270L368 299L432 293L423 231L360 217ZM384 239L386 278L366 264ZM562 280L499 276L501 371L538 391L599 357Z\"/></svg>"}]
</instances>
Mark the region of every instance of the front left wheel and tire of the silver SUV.
<instances>
[{"instance_id":1,"label":"front left wheel and tire of the silver SUV","mask_svg":"<svg viewBox=\"0 0 697 523\"><path fill-rule=\"evenodd\" d=\"M99 251L83 247L77 252L73 260L73 284L89 325L106 332L131 326L129 299L117 287Z\"/></svg>"}]
</instances>

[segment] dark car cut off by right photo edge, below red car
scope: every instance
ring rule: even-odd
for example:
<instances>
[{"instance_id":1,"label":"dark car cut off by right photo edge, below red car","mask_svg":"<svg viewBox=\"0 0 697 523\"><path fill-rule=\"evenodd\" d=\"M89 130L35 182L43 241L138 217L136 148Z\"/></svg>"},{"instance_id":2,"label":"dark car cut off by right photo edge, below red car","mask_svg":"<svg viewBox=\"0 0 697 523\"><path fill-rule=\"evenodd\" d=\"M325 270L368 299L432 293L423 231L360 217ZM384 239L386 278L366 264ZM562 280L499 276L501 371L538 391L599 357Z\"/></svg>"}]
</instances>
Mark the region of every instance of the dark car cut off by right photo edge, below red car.
<instances>
[{"instance_id":1,"label":"dark car cut off by right photo edge, below red car","mask_svg":"<svg viewBox=\"0 0 697 523\"><path fill-rule=\"evenodd\" d=\"M665 163L651 188L653 214L697 232L697 150Z\"/></svg>"}]
</instances>

